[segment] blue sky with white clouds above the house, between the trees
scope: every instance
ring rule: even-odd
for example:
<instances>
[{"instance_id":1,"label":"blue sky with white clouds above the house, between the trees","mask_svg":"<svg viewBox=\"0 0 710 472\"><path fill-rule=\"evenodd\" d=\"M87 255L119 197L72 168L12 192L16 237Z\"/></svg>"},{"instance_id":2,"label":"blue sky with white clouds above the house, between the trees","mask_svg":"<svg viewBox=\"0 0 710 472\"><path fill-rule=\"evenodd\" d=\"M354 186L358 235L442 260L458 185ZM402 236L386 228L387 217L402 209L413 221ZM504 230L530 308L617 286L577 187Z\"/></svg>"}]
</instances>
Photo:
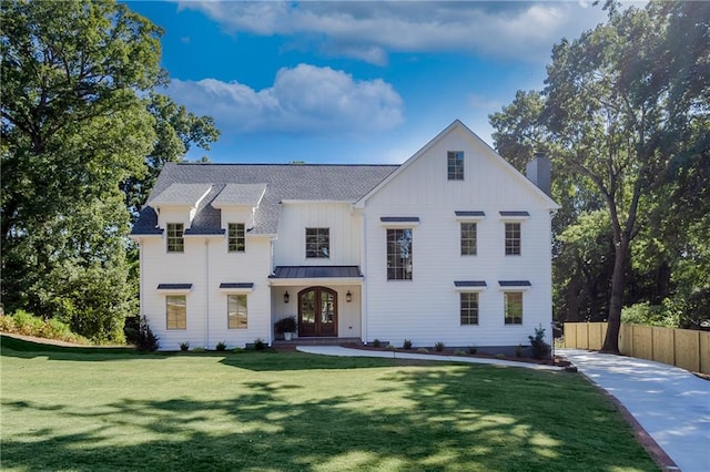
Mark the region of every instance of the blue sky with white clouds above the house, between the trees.
<instances>
[{"instance_id":1,"label":"blue sky with white clouds above the house, between the trees","mask_svg":"<svg viewBox=\"0 0 710 472\"><path fill-rule=\"evenodd\" d=\"M454 120L540 90L552 45L591 1L128 1L162 27L165 93L222 132L233 163L402 163Z\"/></svg>"}]
</instances>

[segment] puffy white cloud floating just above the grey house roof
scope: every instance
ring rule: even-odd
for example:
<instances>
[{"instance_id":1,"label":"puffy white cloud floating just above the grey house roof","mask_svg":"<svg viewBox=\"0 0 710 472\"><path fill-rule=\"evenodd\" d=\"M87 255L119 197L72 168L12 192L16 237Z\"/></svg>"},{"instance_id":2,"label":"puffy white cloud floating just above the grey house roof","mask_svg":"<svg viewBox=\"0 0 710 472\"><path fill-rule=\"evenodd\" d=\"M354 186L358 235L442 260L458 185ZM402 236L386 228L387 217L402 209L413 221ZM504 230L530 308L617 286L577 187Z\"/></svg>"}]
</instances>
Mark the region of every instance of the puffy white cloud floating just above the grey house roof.
<instances>
[{"instance_id":1,"label":"puffy white cloud floating just above the grey house roof","mask_svg":"<svg viewBox=\"0 0 710 472\"><path fill-rule=\"evenodd\" d=\"M215 79L172 80L169 94L219 127L239 133L352 133L385 131L403 121L399 94L381 79L356 81L331 68L281 69L273 86L253 90Z\"/></svg>"}]
</instances>

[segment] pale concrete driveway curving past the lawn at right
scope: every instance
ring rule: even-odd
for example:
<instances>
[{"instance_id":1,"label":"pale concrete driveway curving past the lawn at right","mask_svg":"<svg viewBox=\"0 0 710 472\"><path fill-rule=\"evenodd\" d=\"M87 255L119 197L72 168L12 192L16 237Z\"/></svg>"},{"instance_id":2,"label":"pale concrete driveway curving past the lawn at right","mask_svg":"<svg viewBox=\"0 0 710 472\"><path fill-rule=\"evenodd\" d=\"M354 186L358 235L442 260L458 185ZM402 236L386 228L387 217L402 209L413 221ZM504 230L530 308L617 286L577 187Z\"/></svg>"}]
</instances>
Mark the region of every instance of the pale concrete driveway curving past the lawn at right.
<instances>
[{"instance_id":1,"label":"pale concrete driveway curving past the lawn at right","mask_svg":"<svg viewBox=\"0 0 710 472\"><path fill-rule=\"evenodd\" d=\"M555 352L619 400L682 472L710 471L710 381L645 359Z\"/></svg>"}]
</instances>

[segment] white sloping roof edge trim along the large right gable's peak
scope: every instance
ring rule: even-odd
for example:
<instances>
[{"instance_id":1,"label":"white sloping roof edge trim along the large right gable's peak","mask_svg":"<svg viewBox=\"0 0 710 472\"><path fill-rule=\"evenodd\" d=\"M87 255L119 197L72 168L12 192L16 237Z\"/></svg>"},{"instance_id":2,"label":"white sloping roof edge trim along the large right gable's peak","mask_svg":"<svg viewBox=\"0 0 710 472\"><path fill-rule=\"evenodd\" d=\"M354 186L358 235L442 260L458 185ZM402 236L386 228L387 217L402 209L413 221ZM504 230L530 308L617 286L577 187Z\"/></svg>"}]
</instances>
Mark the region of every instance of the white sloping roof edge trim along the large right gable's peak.
<instances>
[{"instance_id":1,"label":"white sloping roof edge trim along the large right gable's peak","mask_svg":"<svg viewBox=\"0 0 710 472\"><path fill-rule=\"evenodd\" d=\"M488 145L488 143L486 143L476 133L470 131L470 129L468 126L466 126L464 123L462 123L460 120L454 120L454 122L452 124L446 126L446 129L444 129L444 131L442 131L439 134L434 136L434 138L432 141L426 143L424 145L424 147L422 147L412 157L409 157L404 164L402 164L399 166L399 168L397 168L395 172L389 174L387 176L387 178L382 181L375 188L369 191L367 193L367 195L363 196L356 203L356 206L357 207L364 207L365 203L367 202L368 198L371 198L373 195L375 195L377 192L379 192L390 181L396 178L397 175L403 173L407 167L409 167L422 155L426 154L427 151L429 151L432 147L434 147L434 145L436 145L439 141L442 141L446 135L448 135L449 133L452 133L452 132L454 132L456 130L464 131L468 135L468 137L473 138L477 143L483 145L485 148L487 148L490 152L489 153L490 156L494 157L496 160L496 162L500 166L503 166L505 168L506 172L508 172L510 175L513 175L514 178L518 179L518 183L520 185L528 187L530 191L532 191L535 194L537 194L537 196L542 199L542 202L545 203L545 205L547 206L548 209L558 209L558 208L560 208L560 206L552 198L547 196L547 194L545 192L542 192L537 185L535 185L532 182L530 182L525 175L520 174L513 165L510 165L510 163L508 163L505 158L503 158L500 156L500 154L498 154L493 147L490 147Z\"/></svg>"}]
</instances>

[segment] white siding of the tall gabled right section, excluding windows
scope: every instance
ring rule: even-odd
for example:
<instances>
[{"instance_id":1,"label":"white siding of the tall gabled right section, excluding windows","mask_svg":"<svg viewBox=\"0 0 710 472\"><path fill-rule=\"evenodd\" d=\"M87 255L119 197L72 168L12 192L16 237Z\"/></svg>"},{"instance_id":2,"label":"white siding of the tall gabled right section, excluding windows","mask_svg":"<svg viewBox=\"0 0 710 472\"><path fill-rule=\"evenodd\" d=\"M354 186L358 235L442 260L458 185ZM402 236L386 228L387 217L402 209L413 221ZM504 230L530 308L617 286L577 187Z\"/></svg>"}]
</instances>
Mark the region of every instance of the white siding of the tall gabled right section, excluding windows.
<instances>
[{"instance_id":1,"label":"white siding of the tall gabled right section, excluding windows","mask_svg":"<svg viewBox=\"0 0 710 472\"><path fill-rule=\"evenodd\" d=\"M465 153L464 181L448 181L447 152ZM477 223L477 255L460 255L456 211L483 211ZM501 211L525 211L519 219L521 255L505 255ZM517 346L539 325L550 335L550 213L546 202L469 134L454 130L372 195L365 204L366 340L399 346ZM413 216L413 279L387 280L383 216ZM402 225L398 225L402 227ZM479 291L479 324L460 325L454 280L485 280ZM498 280L529 280L523 295L523 325L505 325ZM513 290L513 289L511 289ZM549 341L549 339L548 339Z\"/></svg>"}]
</instances>

